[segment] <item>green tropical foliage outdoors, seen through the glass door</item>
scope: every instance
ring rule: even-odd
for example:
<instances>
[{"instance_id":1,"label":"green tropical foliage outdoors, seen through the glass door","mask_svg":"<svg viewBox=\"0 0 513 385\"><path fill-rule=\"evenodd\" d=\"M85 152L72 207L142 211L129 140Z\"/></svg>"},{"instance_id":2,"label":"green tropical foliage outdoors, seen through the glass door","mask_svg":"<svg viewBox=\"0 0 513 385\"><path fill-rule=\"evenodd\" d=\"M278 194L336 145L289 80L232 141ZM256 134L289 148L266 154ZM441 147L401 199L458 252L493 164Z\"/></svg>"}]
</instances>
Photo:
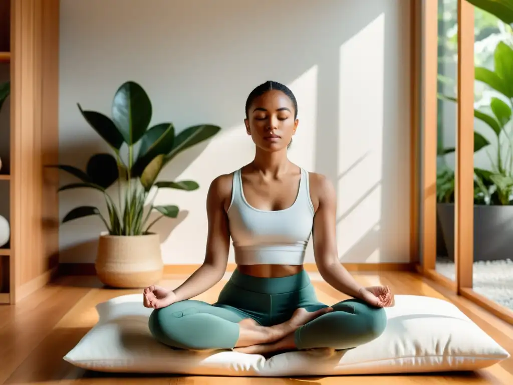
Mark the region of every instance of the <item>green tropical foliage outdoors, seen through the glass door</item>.
<instances>
[{"instance_id":1,"label":"green tropical foliage outdoors, seen through the glass door","mask_svg":"<svg viewBox=\"0 0 513 385\"><path fill-rule=\"evenodd\" d=\"M489 54L477 53L475 67L476 87L479 102L474 110L474 116L485 123L489 131L488 138L493 138L494 144L482 134L474 132L474 151L484 149L490 160L490 169L475 168L475 203L476 204L511 204L513 200L513 134L511 133L513 109L513 48L511 46L511 22L513 22L513 0L471 0L476 7L476 44L487 38L500 36L502 39L496 43L495 49ZM451 2L456 3L456 2ZM445 4L445 3L444 3ZM482 12L480 10L484 10ZM455 13L455 12L453 12ZM455 13L456 14L456 13ZM455 18L455 17L454 17ZM453 18L453 19L454 19ZM501 25L501 20L507 25ZM455 22L455 20L452 20ZM498 25L501 28L494 27ZM445 49L453 51L452 29L450 38L446 38ZM447 37L447 36L446 36ZM490 69L493 68L493 69ZM440 69L440 66L439 66ZM439 75L439 87L447 85L450 80ZM494 92L488 98L481 92ZM456 102L456 98L439 94L440 101ZM439 102L440 106L440 102ZM441 122L439 116L439 137L441 137ZM506 143L504 143L506 142ZM496 145L495 145L496 144ZM495 149L492 156L488 148ZM438 155L444 158L455 151L455 148L444 147L439 142ZM452 202L454 190L454 172L442 161L437 179L437 197L439 202Z\"/></svg>"}]
</instances>

